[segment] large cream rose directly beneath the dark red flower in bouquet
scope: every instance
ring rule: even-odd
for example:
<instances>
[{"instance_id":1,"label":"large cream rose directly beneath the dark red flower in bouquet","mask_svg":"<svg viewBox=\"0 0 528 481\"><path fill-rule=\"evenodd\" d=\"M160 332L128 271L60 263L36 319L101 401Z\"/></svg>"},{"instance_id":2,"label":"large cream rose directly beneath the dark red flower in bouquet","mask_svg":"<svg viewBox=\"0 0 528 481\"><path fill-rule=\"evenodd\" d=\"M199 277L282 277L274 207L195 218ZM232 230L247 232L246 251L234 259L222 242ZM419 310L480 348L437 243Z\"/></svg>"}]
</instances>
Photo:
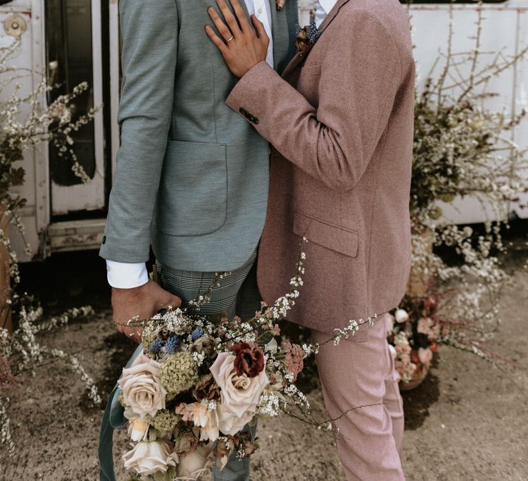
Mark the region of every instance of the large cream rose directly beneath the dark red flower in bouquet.
<instances>
[{"instance_id":1,"label":"large cream rose directly beneath the dark red flower in bouquet","mask_svg":"<svg viewBox=\"0 0 528 481\"><path fill-rule=\"evenodd\" d=\"M230 353L220 353L210 368L214 381L217 381L221 388L221 406L217 411L223 434L236 433L232 432L236 424L233 416L243 419L245 423L250 421L259 405L263 390L270 384L265 368L256 377L248 377L245 373L241 376L236 374L234 359L234 355ZM223 428L230 432L225 432Z\"/></svg>"}]
</instances>

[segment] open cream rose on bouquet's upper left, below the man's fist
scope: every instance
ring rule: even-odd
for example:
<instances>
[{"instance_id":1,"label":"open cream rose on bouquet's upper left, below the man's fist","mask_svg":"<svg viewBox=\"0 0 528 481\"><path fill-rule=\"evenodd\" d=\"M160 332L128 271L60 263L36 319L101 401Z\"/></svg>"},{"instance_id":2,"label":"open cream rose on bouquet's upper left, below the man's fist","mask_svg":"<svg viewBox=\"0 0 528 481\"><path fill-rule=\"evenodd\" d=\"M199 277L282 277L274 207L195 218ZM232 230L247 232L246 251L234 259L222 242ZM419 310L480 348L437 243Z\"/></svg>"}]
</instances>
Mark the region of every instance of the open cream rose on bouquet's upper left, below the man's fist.
<instances>
[{"instance_id":1,"label":"open cream rose on bouquet's upper left, below the man's fist","mask_svg":"<svg viewBox=\"0 0 528 481\"><path fill-rule=\"evenodd\" d=\"M165 409L166 390L159 381L161 364L142 352L118 381L123 402L139 418L155 416Z\"/></svg>"}]
</instances>

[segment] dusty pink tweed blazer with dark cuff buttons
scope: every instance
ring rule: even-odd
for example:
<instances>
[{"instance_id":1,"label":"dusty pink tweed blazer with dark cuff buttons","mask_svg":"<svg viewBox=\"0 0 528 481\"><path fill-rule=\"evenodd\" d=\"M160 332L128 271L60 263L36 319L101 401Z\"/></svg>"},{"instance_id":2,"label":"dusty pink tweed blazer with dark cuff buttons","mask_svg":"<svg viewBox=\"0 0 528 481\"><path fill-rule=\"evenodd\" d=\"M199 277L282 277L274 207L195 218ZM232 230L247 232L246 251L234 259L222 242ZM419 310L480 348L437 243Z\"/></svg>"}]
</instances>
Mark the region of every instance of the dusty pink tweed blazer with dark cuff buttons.
<instances>
[{"instance_id":1,"label":"dusty pink tweed blazer with dark cuff buttons","mask_svg":"<svg viewBox=\"0 0 528 481\"><path fill-rule=\"evenodd\" d=\"M330 332L395 308L410 271L415 62L397 0L338 0L317 43L282 78L251 69L226 100L272 144L258 280L304 286L289 320Z\"/></svg>"}]
</instances>

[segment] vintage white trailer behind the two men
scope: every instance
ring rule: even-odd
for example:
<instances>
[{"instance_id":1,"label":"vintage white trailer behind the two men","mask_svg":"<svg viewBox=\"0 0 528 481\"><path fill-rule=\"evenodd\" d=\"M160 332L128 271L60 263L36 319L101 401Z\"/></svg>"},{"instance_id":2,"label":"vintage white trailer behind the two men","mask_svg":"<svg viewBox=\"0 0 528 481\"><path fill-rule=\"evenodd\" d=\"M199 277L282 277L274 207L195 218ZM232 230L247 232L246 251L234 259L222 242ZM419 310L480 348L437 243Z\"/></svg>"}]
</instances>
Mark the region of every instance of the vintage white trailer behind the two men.
<instances>
[{"instance_id":1,"label":"vintage white trailer behind the two men","mask_svg":"<svg viewBox=\"0 0 528 481\"><path fill-rule=\"evenodd\" d=\"M272 6L274 0L270 0ZM300 2L301 23L307 23L313 1ZM526 0L485 3L484 47L505 47L515 54L528 43L528 4ZM457 49L470 47L477 6L454 5ZM410 7L420 81L437 58L448 38L448 1L415 3ZM138 19L141 21L141 19ZM26 153L23 166L25 183L17 189L28 203L23 209L26 236L34 256L73 249L95 249L100 245L115 153L119 145L116 122L120 87L120 35L118 0L0 0L0 45L21 36L21 50L14 63L35 73L25 79L28 89L36 87L40 74L64 89L87 80L89 95L78 100L80 111L103 104L95 121L76 137L76 149L92 178L83 184L65 161L58 159L51 146L41 145ZM512 114L526 107L528 61L495 80L500 93L490 100L492 107L504 106ZM49 99L42 98L45 103ZM514 139L528 144L527 122L516 129ZM471 199L457 201L459 210L447 208L446 217L456 223L484 221L486 214ZM511 212L528 216L517 205ZM12 242L22 260L22 243L16 234Z\"/></svg>"}]
</instances>

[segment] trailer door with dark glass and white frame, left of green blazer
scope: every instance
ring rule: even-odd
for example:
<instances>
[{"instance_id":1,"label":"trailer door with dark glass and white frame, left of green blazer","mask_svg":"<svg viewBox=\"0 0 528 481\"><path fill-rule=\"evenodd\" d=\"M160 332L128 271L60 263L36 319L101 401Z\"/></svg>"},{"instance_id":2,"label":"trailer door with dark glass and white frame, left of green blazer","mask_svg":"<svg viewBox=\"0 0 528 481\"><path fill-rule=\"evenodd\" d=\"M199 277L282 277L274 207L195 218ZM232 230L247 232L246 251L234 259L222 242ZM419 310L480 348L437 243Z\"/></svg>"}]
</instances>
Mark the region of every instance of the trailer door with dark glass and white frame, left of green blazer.
<instances>
[{"instance_id":1,"label":"trailer door with dark glass and white frame, left of green blazer","mask_svg":"<svg viewBox=\"0 0 528 481\"><path fill-rule=\"evenodd\" d=\"M71 92L80 82L89 88L74 101L74 109L85 114L103 102L103 34L108 16L102 14L101 0L46 0L45 32L48 77L60 87L49 101ZM104 24L103 24L104 19ZM50 145L51 214L53 216L102 210L105 204L104 108L94 122L74 133L74 150L91 183L83 183L70 159L59 157ZM71 215L70 215L71 216Z\"/></svg>"}]
</instances>

